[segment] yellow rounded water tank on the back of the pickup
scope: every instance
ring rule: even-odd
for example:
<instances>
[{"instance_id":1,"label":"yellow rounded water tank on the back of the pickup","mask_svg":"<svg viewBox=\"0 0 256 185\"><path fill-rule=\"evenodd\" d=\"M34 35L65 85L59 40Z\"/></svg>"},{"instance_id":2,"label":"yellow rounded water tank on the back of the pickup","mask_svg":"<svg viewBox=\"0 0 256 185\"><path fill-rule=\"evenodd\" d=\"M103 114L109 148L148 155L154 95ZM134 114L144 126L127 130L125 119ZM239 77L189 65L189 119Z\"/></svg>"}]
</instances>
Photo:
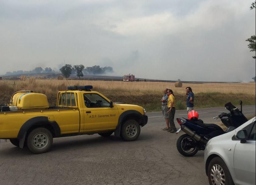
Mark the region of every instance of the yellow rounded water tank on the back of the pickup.
<instances>
[{"instance_id":1,"label":"yellow rounded water tank on the back of the pickup","mask_svg":"<svg viewBox=\"0 0 256 185\"><path fill-rule=\"evenodd\" d=\"M13 105L16 105L19 109L49 108L47 97L44 94L29 92L15 95Z\"/></svg>"}]
</instances>

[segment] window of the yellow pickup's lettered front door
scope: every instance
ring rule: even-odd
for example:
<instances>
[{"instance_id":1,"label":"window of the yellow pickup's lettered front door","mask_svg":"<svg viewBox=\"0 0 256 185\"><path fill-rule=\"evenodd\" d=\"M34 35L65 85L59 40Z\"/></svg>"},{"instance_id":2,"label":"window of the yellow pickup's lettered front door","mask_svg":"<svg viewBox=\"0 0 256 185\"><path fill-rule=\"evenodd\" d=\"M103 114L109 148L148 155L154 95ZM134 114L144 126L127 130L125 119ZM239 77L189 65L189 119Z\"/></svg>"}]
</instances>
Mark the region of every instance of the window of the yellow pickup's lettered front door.
<instances>
[{"instance_id":1,"label":"window of the yellow pickup's lettered front door","mask_svg":"<svg viewBox=\"0 0 256 185\"><path fill-rule=\"evenodd\" d=\"M84 94L84 103L88 108L109 107L110 104L99 94Z\"/></svg>"}]
</instances>

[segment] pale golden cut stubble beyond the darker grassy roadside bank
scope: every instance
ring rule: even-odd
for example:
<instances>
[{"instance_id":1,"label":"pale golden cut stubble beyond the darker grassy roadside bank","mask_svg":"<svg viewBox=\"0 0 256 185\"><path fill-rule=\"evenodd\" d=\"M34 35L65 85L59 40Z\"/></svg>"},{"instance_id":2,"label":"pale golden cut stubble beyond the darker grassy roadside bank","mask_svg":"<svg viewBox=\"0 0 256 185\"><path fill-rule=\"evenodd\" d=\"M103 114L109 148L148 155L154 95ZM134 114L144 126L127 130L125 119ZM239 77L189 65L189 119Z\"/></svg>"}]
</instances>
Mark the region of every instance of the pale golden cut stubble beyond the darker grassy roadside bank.
<instances>
[{"instance_id":1,"label":"pale golden cut stubble beyond the darker grassy roadside bank","mask_svg":"<svg viewBox=\"0 0 256 185\"><path fill-rule=\"evenodd\" d=\"M121 92L136 92L144 94L162 93L164 88L170 88L174 94L186 94L185 88L191 87L193 92L218 92L218 93L234 93L234 94L255 94L255 83L204 83L204 84L187 84L183 83L183 88L175 87L175 83L169 82L124 82L124 81L71 81L70 85L93 85L94 88L100 90L116 90Z\"/></svg>"}]
</instances>

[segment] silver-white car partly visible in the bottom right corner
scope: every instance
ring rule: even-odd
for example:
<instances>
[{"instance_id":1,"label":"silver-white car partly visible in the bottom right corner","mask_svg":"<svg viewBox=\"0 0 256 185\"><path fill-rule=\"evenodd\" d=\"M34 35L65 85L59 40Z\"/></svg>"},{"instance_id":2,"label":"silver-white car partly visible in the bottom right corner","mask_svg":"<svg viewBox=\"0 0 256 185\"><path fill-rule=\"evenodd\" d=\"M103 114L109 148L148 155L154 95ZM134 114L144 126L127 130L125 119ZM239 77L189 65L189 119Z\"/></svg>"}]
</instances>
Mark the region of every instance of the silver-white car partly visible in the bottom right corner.
<instances>
[{"instance_id":1,"label":"silver-white car partly visible in the bottom right corner","mask_svg":"<svg viewBox=\"0 0 256 185\"><path fill-rule=\"evenodd\" d=\"M252 185L255 180L255 117L207 142L205 171L211 185Z\"/></svg>"}]
</instances>

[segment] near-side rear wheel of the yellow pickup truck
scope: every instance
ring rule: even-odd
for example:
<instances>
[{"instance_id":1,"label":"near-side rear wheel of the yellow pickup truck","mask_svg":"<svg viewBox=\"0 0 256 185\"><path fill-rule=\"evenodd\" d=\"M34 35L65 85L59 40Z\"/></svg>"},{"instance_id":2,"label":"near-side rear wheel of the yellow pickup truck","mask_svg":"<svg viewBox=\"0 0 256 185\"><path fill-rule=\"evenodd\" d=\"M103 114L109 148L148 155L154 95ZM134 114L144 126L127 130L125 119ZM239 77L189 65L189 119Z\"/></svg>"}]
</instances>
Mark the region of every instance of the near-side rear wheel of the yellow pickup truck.
<instances>
[{"instance_id":1,"label":"near-side rear wheel of the yellow pickup truck","mask_svg":"<svg viewBox=\"0 0 256 185\"><path fill-rule=\"evenodd\" d=\"M31 152L42 154L51 148L52 140L52 133L48 129L39 127L29 133L27 146Z\"/></svg>"}]
</instances>

